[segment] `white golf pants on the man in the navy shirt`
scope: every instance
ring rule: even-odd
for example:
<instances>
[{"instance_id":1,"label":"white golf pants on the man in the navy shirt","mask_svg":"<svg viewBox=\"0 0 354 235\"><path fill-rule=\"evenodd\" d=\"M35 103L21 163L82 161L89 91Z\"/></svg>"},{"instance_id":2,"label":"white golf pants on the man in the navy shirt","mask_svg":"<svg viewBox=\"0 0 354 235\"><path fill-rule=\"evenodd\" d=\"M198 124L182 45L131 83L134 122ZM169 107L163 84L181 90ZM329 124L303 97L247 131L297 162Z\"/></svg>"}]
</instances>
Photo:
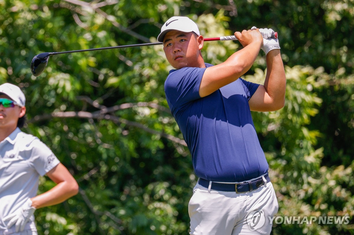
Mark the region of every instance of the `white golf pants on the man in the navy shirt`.
<instances>
[{"instance_id":1,"label":"white golf pants on the man in the navy shirt","mask_svg":"<svg viewBox=\"0 0 354 235\"><path fill-rule=\"evenodd\" d=\"M277 212L278 201L271 182L245 193L208 191L197 183L188 205L190 234L270 234L272 224L268 217Z\"/></svg>"}]
</instances>

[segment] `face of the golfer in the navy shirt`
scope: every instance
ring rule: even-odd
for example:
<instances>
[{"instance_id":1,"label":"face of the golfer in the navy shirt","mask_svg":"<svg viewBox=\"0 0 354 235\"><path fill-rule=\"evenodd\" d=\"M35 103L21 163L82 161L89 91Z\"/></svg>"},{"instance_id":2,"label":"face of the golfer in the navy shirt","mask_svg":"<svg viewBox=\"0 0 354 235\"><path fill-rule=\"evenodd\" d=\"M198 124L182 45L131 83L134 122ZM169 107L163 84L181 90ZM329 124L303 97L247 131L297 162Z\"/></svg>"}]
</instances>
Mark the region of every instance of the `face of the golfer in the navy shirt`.
<instances>
[{"instance_id":1,"label":"face of the golfer in the navy shirt","mask_svg":"<svg viewBox=\"0 0 354 235\"><path fill-rule=\"evenodd\" d=\"M166 58L174 68L200 67L199 50L203 45L193 32L171 30L165 35L163 43Z\"/></svg>"}]
</instances>

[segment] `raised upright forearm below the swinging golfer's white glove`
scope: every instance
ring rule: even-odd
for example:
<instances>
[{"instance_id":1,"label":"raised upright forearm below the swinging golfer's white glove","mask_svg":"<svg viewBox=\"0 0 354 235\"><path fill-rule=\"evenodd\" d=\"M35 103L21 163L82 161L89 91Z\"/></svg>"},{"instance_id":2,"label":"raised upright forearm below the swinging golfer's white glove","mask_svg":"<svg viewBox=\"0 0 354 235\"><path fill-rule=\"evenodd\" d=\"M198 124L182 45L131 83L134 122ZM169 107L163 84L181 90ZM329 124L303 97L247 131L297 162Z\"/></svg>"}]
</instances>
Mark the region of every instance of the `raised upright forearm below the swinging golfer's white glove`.
<instances>
[{"instance_id":1,"label":"raised upright forearm below the swinging golfer's white glove","mask_svg":"<svg viewBox=\"0 0 354 235\"><path fill-rule=\"evenodd\" d=\"M285 102L286 78L280 50L271 50L267 54L267 74L264 88L277 107L282 108Z\"/></svg>"}]
</instances>

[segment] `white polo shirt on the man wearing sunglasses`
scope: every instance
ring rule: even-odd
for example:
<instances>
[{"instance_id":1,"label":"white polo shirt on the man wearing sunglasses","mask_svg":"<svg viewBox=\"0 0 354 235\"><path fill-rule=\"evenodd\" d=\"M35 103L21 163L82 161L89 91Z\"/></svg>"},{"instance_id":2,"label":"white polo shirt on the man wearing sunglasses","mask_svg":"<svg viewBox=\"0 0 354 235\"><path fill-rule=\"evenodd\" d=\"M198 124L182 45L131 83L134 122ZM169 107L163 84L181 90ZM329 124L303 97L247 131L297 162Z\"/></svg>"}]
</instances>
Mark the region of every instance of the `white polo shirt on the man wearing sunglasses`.
<instances>
[{"instance_id":1,"label":"white polo shirt on the man wearing sunglasses","mask_svg":"<svg viewBox=\"0 0 354 235\"><path fill-rule=\"evenodd\" d=\"M39 176L58 164L47 145L19 128L0 142L0 231L6 230L8 223L4 217L37 195ZM28 223L26 229L35 229L34 222Z\"/></svg>"}]
</instances>

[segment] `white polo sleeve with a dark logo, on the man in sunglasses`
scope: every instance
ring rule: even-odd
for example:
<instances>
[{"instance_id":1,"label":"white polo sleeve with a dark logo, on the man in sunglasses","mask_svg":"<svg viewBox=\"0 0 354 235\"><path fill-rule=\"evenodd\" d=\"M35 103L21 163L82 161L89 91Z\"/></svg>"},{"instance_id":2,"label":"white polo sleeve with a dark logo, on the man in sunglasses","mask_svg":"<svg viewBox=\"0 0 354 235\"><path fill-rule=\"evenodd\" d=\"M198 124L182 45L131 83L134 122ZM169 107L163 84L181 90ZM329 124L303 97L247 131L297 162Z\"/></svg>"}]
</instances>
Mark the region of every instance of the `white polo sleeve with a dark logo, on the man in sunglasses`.
<instances>
[{"instance_id":1,"label":"white polo sleeve with a dark logo, on the man in sunglasses","mask_svg":"<svg viewBox=\"0 0 354 235\"><path fill-rule=\"evenodd\" d=\"M38 138L34 138L30 143L32 155L29 164L41 175L45 175L60 162L47 145Z\"/></svg>"}]
</instances>

